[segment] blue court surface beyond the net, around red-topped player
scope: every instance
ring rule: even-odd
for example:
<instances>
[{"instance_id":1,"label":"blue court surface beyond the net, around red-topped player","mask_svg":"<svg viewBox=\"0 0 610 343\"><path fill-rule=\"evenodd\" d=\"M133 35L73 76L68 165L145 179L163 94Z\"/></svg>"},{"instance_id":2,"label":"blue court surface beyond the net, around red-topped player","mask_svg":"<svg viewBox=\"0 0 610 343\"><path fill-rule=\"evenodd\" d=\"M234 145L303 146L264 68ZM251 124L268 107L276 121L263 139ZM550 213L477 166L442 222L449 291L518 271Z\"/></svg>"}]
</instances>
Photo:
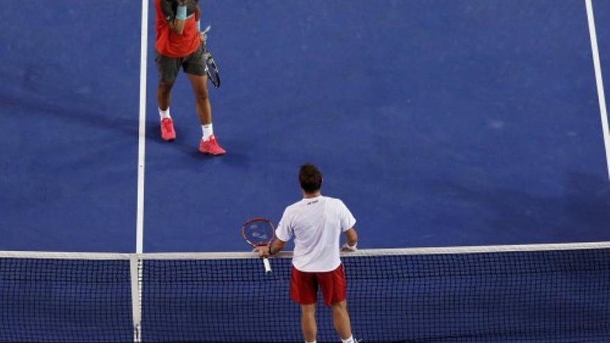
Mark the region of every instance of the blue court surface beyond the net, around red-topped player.
<instances>
[{"instance_id":1,"label":"blue court surface beyond the net, around red-topped player","mask_svg":"<svg viewBox=\"0 0 610 343\"><path fill-rule=\"evenodd\" d=\"M356 216L360 246L610 240L584 1L201 1L223 87L197 150L184 75L159 137L150 3L144 252L244 251L297 169ZM610 2L594 0L610 84ZM134 252L140 3L0 9L0 250Z\"/></svg>"}]
</instances>

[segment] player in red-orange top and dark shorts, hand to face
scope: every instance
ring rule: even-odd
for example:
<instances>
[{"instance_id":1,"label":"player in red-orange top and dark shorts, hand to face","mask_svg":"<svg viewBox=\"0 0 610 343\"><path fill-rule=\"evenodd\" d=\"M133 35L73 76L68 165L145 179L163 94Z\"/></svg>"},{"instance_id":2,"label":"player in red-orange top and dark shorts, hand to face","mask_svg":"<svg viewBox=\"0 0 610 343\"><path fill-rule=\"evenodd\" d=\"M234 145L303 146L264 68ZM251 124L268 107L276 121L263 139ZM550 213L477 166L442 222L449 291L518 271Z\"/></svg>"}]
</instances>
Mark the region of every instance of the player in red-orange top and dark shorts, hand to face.
<instances>
[{"instance_id":1,"label":"player in red-orange top and dark shorts, hand to face","mask_svg":"<svg viewBox=\"0 0 610 343\"><path fill-rule=\"evenodd\" d=\"M155 10L157 12L155 62L159 71L157 103L161 116L161 137L165 141L176 138L169 105L171 89L182 67L195 93L195 108L203 131L199 150L204 154L223 155L225 150L218 145L212 128L207 66L202 49L205 35L200 34L201 11L198 0L155 0Z\"/></svg>"}]
</instances>

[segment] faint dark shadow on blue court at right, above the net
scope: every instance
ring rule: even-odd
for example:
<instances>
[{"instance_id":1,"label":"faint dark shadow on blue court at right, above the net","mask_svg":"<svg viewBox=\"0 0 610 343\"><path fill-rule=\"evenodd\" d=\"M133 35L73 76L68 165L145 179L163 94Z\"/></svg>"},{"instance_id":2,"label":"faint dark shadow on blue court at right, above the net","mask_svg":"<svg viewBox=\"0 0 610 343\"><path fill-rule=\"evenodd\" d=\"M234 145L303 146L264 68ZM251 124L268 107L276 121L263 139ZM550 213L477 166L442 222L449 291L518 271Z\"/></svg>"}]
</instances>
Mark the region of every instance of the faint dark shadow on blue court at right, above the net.
<instances>
[{"instance_id":1,"label":"faint dark shadow on blue court at right, above the net","mask_svg":"<svg viewBox=\"0 0 610 343\"><path fill-rule=\"evenodd\" d=\"M532 181L535 182L535 181ZM610 181L568 172L560 195L538 195L527 184L515 188L480 188L450 182L430 187L460 202L473 204L475 216L498 232L527 232L531 242L610 240Z\"/></svg>"}]
</instances>

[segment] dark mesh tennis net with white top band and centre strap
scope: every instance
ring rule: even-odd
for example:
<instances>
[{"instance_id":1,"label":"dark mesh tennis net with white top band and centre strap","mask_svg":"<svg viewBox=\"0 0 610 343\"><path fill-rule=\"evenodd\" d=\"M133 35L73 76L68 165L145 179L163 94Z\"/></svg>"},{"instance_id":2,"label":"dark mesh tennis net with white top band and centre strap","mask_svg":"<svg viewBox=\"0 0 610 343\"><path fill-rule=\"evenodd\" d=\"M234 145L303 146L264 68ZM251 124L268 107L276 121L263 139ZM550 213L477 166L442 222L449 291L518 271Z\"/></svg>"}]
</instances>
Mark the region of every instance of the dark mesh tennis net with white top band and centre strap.
<instances>
[{"instance_id":1,"label":"dark mesh tennis net with white top band and centre strap","mask_svg":"<svg viewBox=\"0 0 610 343\"><path fill-rule=\"evenodd\" d=\"M345 254L369 342L609 342L610 243ZM0 252L0 342L302 342L290 254ZM339 342L318 306L318 342Z\"/></svg>"}]
</instances>

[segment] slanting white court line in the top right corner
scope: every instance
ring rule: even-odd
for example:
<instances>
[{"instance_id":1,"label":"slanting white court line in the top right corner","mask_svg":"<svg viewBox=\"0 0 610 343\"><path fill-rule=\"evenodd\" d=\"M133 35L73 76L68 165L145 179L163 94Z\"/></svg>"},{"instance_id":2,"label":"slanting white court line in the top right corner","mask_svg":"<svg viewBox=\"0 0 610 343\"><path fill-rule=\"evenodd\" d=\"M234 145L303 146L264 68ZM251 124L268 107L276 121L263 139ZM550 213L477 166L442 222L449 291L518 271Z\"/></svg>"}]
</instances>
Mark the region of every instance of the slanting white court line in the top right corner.
<instances>
[{"instance_id":1,"label":"slanting white court line in the top right corner","mask_svg":"<svg viewBox=\"0 0 610 343\"><path fill-rule=\"evenodd\" d=\"M610 179L610 130L608 129L608 112L606 109L606 96L604 94L604 80L600 64L600 51L598 49L598 35L595 33L595 16L591 0L585 0L586 18L589 22L589 37L591 38L591 51L593 52L593 67L595 68L595 82L598 85L598 100L600 102L600 115L602 116L602 130L604 132L604 146L606 147L606 164L608 178Z\"/></svg>"}]
</instances>

